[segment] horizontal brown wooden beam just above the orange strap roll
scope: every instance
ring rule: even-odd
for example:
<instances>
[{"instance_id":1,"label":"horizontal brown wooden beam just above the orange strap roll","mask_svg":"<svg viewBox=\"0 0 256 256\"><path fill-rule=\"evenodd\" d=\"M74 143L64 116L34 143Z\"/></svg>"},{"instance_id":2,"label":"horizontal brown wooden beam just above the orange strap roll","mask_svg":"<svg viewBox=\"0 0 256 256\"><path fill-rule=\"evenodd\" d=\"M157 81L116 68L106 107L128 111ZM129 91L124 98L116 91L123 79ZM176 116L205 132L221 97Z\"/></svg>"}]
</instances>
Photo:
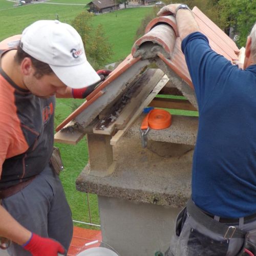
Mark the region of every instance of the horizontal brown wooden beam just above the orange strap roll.
<instances>
[{"instance_id":1,"label":"horizontal brown wooden beam just above the orange strap roll","mask_svg":"<svg viewBox=\"0 0 256 256\"><path fill-rule=\"evenodd\" d=\"M195 106L184 99L155 98L148 106L154 106L154 108L197 111Z\"/></svg>"}]
</instances>

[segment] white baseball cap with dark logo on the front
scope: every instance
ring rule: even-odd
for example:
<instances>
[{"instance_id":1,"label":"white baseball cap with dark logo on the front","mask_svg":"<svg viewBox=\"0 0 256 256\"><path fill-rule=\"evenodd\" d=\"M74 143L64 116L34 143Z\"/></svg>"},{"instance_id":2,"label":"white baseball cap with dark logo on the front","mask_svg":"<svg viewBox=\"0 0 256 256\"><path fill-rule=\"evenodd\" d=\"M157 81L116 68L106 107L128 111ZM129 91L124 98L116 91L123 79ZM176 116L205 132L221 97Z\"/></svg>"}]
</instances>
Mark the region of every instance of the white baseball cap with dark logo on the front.
<instances>
[{"instance_id":1,"label":"white baseball cap with dark logo on the front","mask_svg":"<svg viewBox=\"0 0 256 256\"><path fill-rule=\"evenodd\" d=\"M23 31L20 47L35 59L47 63L71 88L88 87L100 80L87 61L80 35L66 23L38 20Z\"/></svg>"}]
</instances>

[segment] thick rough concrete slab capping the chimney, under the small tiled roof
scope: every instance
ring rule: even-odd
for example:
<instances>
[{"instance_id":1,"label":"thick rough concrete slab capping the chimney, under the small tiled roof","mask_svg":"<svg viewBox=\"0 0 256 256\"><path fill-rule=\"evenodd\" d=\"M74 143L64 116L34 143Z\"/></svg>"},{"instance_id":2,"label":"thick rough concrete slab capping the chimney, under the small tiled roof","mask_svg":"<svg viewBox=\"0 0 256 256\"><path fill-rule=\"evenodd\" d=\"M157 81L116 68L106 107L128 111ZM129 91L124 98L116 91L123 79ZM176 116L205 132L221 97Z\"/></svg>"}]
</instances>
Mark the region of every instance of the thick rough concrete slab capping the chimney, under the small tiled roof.
<instances>
[{"instance_id":1,"label":"thick rough concrete slab capping the chimney, under the small tiled roof","mask_svg":"<svg viewBox=\"0 0 256 256\"><path fill-rule=\"evenodd\" d=\"M142 148L139 139L123 137L113 147L114 173L93 176L88 164L77 178L76 188L99 196L180 208L190 196L193 152L191 145L158 141L148 141L148 147Z\"/></svg>"}]
</instances>

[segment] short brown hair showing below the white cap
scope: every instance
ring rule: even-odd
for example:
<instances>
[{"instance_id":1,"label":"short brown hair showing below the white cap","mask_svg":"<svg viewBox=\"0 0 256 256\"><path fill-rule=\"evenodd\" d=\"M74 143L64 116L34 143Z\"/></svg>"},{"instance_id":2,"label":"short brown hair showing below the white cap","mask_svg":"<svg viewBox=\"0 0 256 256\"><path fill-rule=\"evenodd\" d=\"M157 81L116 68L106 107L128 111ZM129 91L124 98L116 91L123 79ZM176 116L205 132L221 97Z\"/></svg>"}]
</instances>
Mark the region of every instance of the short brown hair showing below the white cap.
<instances>
[{"instance_id":1,"label":"short brown hair showing below the white cap","mask_svg":"<svg viewBox=\"0 0 256 256\"><path fill-rule=\"evenodd\" d=\"M37 79L40 79L44 75L50 75L53 73L53 70L47 63L35 59L34 57L30 56L25 51L23 51L23 49L20 46L18 46L17 53L15 54L14 57L15 61L20 64L26 57L29 57L31 59L32 65L35 68L34 76Z\"/></svg>"}]
</instances>

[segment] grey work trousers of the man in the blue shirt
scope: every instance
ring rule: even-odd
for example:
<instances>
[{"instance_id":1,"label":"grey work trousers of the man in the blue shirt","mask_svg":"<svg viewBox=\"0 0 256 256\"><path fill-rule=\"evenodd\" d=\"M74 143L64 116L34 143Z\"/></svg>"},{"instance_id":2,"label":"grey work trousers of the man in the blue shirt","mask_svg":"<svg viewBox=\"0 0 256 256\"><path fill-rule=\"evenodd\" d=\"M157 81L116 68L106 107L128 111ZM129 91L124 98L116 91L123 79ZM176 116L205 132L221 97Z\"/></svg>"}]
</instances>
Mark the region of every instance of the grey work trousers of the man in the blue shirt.
<instances>
[{"instance_id":1,"label":"grey work trousers of the man in the blue shirt","mask_svg":"<svg viewBox=\"0 0 256 256\"><path fill-rule=\"evenodd\" d=\"M181 215L182 211L177 220ZM218 217L215 220L218 221ZM244 218L240 218L239 224L226 225L235 226L249 232L248 240L256 244L256 219L244 223ZM241 251L243 245L244 239L231 238L225 240L223 236L208 230L186 212L186 220L180 235L174 234L165 256L235 256Z\"/></svg>"}]
</instances>

